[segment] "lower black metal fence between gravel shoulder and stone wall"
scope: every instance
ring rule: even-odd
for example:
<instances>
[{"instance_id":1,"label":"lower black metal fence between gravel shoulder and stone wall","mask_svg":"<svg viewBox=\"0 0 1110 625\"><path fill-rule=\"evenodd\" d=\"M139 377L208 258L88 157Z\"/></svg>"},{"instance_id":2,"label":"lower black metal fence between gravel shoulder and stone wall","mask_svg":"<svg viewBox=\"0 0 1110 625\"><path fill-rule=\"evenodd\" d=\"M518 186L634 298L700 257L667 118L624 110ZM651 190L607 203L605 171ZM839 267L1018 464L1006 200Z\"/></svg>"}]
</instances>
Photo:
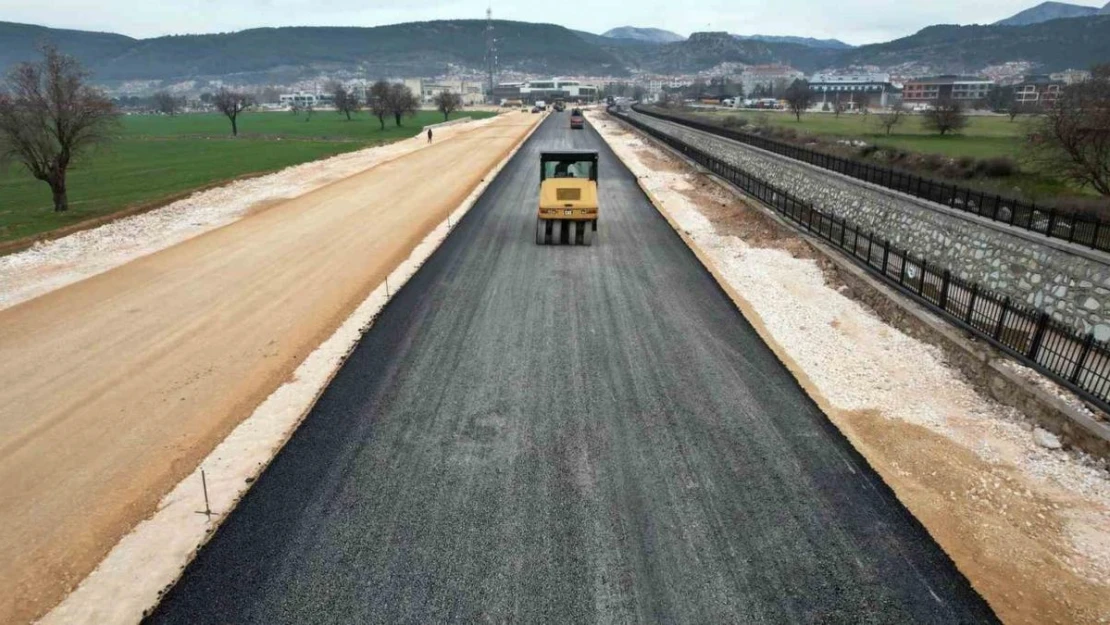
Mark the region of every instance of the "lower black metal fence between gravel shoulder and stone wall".
<instances>
[{"instance_id":1,"label":"lower black metal fence between gravel shoulder and stone wall","mask_svg":"<svg viewBox=\"0 0 1110 625\"><path fill-rule=\"evenodd\" d=\"M626 114L625 122L666 143L774 208L790 221L850 255L899 291L948 321L987 340L1023 364L1048 375L1110 412L1110 345L1082 335L1023 303L978 283L961 280L856 224L821 212L790 193Z\"/></svg>"}]
</instances>

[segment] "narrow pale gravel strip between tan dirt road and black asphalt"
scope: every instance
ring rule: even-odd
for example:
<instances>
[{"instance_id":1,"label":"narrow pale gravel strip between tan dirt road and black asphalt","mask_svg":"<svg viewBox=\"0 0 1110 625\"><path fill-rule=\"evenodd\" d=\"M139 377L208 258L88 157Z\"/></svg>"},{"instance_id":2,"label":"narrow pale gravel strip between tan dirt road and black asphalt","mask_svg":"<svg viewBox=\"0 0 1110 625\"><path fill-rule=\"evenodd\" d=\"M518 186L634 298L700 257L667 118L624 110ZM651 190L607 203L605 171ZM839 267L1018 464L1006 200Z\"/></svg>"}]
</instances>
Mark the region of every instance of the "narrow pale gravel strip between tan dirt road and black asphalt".
<instances>
[{"instance_id":1,"label":"narrow pale gravel strip between tan dirt road and black asphalt","mask_svg":"<svg viewBox=\"0 0 1110 625\"><path fill-rule=\"evenodd\" d=\"M385 305L446 241L501 171L543 124L539 118L465 200L440 222L250 416L125 534L75 588L36 623L138 623L181 578L185 567L281 452L374 324ZM310 393L311 391L311 393ZM201 472L204 471L202 480ZM206 483L208 503L205 503ZM212 513L205 514L205 506Z\"/></svg>"}]
</instances>

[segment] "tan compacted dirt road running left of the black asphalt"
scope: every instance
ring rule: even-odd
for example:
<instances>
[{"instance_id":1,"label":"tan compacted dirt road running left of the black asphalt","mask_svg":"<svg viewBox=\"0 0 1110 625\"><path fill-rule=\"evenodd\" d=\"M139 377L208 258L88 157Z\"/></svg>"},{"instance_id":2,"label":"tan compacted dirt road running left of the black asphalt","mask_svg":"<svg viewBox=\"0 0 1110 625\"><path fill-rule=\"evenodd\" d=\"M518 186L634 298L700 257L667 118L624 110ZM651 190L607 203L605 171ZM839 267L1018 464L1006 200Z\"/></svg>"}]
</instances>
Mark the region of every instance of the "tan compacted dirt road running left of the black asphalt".
<instances>
[{"instance_id":1,"label":"tan compacted dirt road running left of the black asphalt","mask_svg":"<svg viewBox=\"0 0 1110 625\"><path fill-rule=\"evenodd\" d=\"M504 115L0 311L0 622L88 574L535 122Z\"/></svg>"}]
</instances>

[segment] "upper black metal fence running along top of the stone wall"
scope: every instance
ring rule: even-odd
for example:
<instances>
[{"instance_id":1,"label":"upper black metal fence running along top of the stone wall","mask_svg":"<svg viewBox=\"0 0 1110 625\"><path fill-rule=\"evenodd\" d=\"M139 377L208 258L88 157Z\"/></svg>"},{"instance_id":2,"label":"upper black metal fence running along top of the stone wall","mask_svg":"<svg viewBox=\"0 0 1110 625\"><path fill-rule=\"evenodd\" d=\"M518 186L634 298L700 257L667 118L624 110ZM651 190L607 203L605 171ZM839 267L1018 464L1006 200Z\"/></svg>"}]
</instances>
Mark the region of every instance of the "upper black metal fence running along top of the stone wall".
<instances>
[{"instance_id":1,"label":"upper black metal fence running along top of the stone wall","mask_svg":"<svg viewBox=\"0 0 1110 625\"><path fill-rule=\"evenodd\" d=\"M722 128L712 123L668 115L658 111L634 109L638 113L679 123L718 137L733 139L776 154L835 171L872 184L900 191L922 200L945 204L951 209L977 214L981 218L1008 223L1053 239L1062 239L1096 250L1110 251L1110 223L1097 218L1060 212L1053 208L1038 206L999 194L983 193L967 187L939 182L891 168L872 165L862 161L834 157L807 150L766 137L758 137Z\"/></svg>"}]
</instances>

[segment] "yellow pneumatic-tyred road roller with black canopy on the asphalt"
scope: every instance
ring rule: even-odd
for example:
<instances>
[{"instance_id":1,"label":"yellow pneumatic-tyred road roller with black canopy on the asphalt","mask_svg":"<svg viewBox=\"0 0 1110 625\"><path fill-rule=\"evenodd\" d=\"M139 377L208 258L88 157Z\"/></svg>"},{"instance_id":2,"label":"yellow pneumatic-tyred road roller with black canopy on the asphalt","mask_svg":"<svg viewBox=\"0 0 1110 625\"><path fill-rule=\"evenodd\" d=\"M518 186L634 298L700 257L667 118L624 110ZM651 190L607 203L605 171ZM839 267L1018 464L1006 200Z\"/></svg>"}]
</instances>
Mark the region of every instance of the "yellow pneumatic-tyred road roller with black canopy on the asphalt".
<instances>
[{"instance_id":1,"label":"yellow pneumatic-tyred road roller with black canopy on the asphalt","mask_svg":"<svg viewBox=\"0 0 1110 625\"><path fill-rule=\"evenodd\" d=\"M597 152L541 152L536 243L589 245L596 235Z\"/></svg>"}]
</instances>

